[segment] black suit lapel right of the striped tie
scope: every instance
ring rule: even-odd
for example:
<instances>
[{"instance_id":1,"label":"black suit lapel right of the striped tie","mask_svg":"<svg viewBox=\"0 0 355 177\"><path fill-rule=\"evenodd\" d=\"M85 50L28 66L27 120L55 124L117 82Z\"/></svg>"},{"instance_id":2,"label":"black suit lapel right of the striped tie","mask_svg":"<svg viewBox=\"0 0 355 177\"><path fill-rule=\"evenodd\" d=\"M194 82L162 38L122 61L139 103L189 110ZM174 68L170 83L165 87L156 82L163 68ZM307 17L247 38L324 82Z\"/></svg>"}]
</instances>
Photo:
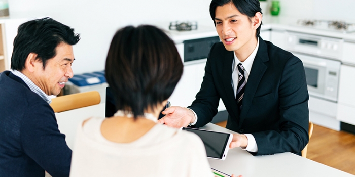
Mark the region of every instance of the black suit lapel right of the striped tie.
<instances>
[{"instance_id":1,"label":"black suit lapel right of the striped tie","mask_svg":"<svg viewBox=\"0 0 355 177\"><path fill-rule=\"evenodd\" d=\"M255 56L252 70L250 71L248 80L245 85L245 91L243 96L242 108L239 118L239 125L241 125L246 118L247 112L252 105L252 101L257 91L261 78L263 77L267 66L264 62L269 60L267 53L267 46L263 39L259 38L259 49Z\"/></svg>"}]
</instances>

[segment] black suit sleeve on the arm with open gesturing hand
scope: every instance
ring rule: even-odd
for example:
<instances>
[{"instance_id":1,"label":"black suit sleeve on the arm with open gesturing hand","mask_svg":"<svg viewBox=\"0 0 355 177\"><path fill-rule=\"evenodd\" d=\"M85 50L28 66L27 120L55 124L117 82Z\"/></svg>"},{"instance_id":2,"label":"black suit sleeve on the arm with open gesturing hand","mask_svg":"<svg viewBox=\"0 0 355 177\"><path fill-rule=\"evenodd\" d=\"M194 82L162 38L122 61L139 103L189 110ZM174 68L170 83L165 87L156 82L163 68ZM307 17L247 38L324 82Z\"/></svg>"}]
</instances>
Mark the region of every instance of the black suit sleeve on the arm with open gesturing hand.
<instances>
[{"instance_id":1,"label":"black suit sleeve on the arm with open gesturing hand","mask_svg":"<svg viewBox=\"0 0 355 177\"><path fill-rule=\"evenodd\" d=\"M215 46L216 43L212 46L210 51L213 51ZM203 76L201 89L197 93L195 101L193 101L192 105L188 107L194 110L198 117L198 121L195 125L196 127L201 127L212 121L212 118L218 112L217 108L221 98L216 90L215 82L212 76L210 53L207 57L205 75Z\"/></svg>"}]
</instances>

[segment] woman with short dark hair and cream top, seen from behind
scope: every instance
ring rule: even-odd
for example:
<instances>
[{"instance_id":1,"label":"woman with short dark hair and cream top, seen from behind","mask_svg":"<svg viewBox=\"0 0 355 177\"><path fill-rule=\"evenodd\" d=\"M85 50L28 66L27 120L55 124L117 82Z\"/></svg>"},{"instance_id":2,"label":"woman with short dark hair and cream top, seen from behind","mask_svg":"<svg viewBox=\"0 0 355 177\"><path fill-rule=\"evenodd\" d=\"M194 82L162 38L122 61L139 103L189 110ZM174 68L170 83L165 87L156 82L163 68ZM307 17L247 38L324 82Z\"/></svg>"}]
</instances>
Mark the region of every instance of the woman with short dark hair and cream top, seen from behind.
<instances>
[{"instance_id":1,"label":"woman with short dark hair and cream top, seen from behind","mask_svg":"<svg viewBox=\"0 0 355 177\"><path fill-rule=\"evenodd\" d=\"M182 73L174 42L162 30L117 31L105 75L118 111L79 126L70 176L214 176L197 135L156 123Z\"/></svg>"}]
</instances>

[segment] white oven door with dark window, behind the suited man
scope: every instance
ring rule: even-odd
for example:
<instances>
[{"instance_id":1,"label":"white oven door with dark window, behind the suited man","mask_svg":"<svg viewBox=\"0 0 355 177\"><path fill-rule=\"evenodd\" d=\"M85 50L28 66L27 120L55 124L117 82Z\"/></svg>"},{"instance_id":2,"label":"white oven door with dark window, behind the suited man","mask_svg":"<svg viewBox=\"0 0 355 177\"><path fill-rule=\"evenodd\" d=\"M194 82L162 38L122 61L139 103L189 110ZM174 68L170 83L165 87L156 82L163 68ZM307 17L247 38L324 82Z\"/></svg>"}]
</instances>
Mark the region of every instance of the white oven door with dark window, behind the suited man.
<instances>
[{"instance_id":1,"label":"white oven door with dark window, behind the suited man","mask_svg":"<svg viewBox=\"0 0 355 177\"><path fill-rule=\"evenodd\" d=\"M303 62L310 96L337 102L340 61L295 53Z\"/></svg>"}]
</instances>

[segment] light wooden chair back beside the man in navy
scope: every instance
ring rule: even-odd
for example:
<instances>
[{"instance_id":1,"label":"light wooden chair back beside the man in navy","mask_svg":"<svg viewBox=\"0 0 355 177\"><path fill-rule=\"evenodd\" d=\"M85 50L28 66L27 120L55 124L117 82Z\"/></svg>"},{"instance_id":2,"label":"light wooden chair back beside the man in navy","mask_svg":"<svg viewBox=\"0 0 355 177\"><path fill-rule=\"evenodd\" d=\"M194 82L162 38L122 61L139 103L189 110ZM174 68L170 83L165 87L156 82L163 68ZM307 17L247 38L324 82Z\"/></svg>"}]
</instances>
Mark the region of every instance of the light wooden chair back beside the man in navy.
<instances>
[{"instance_id":1,"label":"light wooden chair back beside the man in navy","mask_svg":"<svg viewBox=\"0 0 355 177\"><path fill-rule=\"evenodd\" d=\"M54 112L63 112L86 106L97 105L100 102L100 94L97 91L91 91L53 98L50 106L53 108Z\"/></svg>"}]
</instances>

